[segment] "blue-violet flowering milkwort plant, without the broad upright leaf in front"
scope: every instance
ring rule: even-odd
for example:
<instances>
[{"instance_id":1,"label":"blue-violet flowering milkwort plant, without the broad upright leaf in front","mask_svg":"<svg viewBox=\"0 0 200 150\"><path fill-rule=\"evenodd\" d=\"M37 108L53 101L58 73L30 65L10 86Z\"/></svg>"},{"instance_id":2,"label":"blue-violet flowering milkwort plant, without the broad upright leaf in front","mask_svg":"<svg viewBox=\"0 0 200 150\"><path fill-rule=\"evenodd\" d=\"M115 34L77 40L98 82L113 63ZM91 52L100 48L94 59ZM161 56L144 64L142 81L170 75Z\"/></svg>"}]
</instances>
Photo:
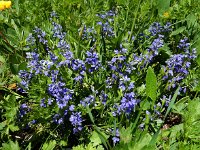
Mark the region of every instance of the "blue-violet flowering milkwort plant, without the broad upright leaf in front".
<instances>
[{"instance_id":1,"label":"blue-violet flowering milkwort plant, without the broad upright leaf in front","mask_svg":"<svg viewBox=\"0 0 200 150\"><path fill-rule=\"evenodd\" d=\"M115 15L112 11L98 14L98 25L102 26L103 33L98 35L95 27L91 27L91 30L84 27L83 39L88 42L96 36L112 39L112 17ZM83 142L86 142L86 136L98 126L115 145L120 141L120 127L129 126L142 109L140 103L146 96L139 92L138 87L145 84L147 67L159 65L157 57L160 48L170 44L168 36L172 31L171 24L162 26L153 23L147 35L144 35L148 37L148 42L138 44L137 37L133 38L135 42L130 43L129 47L122 42L109 49L110 55L106 63L102 63L102 56L95 48L98 42L84 51L83 57L76 56L70 41L66 40L68 32L64 32L55 21L58 16L53 12L51 17L50 35L36 27L27 38L32 51L27 53L27 69L19 72L19 90L29 98L22 101L20 106L21 125L31 124L30 128L35 130L42 126L40 132L42 130L44 133L48 132L46 129L54 130L56 139L66 138L69 145L73 138L83 137ZM170 102L169 95L173 94L174 88L184 84L183 79L196 58L195 49L190 51L187 41L186 38L181 40L177 44L179 50L172 50L172 55L160 66L164 70L164 73L159 73L159 76L163 76L159 81L163 92L156 100L154 110L149 110L151 115L155 113L159 116L162 113L160 110ZM173 91L170 91L172 88ZM180 92L185 93L184 86ZM144 110L138 126L145 120L145 115L150 116L149 111ZM117 127L117 130L108 132L105 130L107 127Z\"/></svg>"}]
</instances>

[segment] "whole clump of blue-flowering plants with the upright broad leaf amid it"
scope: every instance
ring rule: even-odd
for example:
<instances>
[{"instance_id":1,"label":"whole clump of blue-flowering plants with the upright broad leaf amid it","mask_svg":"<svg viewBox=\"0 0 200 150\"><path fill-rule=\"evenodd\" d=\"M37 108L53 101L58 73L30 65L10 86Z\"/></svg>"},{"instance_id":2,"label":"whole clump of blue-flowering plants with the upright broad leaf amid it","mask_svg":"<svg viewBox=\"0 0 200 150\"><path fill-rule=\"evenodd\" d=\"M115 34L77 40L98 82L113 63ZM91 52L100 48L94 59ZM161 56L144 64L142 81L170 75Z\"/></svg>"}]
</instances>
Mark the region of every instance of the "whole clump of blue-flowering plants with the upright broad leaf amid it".
<instances>
[{"instance_id":1,"label":"whole clump of blue-flowering plants with the upright broad leaf amid it","mask_svg":"<svg viewBox=\"0 0 200 150\"><path fill-rule=\"evenodd\" d=\"M190 95L185 80L196 49L187 37L173 36L171 23L154 22L133 36L129 29L114 29L114 11L96 17L95 25L77 29L89 48L75 49L78 43L70 40L55 12L51 30L35 27L27 38L30 52L18 89L26 98L17 120L22 132L32 134L30 141L40 137L59 146L93 142L93 148L111 148L120 143L124 128L132 127L132 134L155 133L173 95ZM116 39L118 32L121 39Z\"/></svg>"}]
</instances>

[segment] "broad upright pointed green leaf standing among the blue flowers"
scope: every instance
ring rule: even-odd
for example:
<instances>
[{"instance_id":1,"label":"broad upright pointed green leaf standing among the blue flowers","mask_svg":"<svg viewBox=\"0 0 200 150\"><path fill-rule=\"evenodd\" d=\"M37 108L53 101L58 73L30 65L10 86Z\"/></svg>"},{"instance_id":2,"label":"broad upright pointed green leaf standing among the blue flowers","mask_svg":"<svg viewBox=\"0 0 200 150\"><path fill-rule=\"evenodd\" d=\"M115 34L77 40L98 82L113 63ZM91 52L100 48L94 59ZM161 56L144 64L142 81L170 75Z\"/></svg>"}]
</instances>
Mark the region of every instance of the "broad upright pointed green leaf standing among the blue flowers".
<instances>
[{"instance_id":1,"label":"broad upright pointed green leaf standing among the blue flowers","mask_svg":"<svg viewBox=\"0 0 200 150\"><path fill-rule=\"evenodd\" d=\"M156 75L151 67L147 70L146 75L146 94L150 97L153 101L156 100L157 97L157 79ZM154 105L154 103L153 103Z\"/></svg>"}]
</instances>

